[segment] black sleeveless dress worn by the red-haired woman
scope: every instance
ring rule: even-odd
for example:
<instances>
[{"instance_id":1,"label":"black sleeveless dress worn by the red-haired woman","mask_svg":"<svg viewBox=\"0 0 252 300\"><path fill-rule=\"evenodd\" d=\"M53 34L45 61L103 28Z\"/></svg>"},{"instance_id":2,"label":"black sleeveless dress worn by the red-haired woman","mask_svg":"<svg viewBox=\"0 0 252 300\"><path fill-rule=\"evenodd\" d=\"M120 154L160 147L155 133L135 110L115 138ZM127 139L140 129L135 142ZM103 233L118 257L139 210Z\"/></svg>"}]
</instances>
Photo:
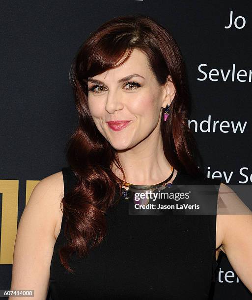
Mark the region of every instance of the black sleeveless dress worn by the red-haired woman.
<instances>
[{"instance_id":1,"label":"black sleeveless dress worn by the red-haired woman","mask_svg":"<svg viewBox=\"0 0 252 300\"><path fill-rule=\"evenodd\" d=\"M64 194L77 182L62 169ZM215 185L221 181L177 173L173 185ZM217 208L217 195L213 193ZM73 254L69 273L58 249L64 245L63 215L50 267L51 300L208 299L217 267L215 215L129 215L120 200L107 211L108 233L87 257Z\"/></svg>"}]
</instances>

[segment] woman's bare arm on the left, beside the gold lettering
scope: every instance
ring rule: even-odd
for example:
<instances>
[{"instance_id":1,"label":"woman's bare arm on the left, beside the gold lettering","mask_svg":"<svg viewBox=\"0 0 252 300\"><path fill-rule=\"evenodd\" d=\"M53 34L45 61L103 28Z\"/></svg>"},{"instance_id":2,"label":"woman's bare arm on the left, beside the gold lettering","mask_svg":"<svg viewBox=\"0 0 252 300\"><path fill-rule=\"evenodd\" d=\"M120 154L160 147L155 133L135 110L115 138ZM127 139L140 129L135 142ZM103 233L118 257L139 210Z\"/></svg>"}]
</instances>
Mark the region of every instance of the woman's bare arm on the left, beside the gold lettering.
<instances>
[{"instance_id":1,"label":"woman's bare arm on the left, beside the gold lettering","mask_svg":"<svg viewBox=\"0 0 252 300\"><path fill-rule=\"evenodd\" d=\"M34 290L34 300L47 297L56 225L62 219L63 193L62 172L41 180L32 191L18 225L10 289Z\"/></svg>"}]
</instances>

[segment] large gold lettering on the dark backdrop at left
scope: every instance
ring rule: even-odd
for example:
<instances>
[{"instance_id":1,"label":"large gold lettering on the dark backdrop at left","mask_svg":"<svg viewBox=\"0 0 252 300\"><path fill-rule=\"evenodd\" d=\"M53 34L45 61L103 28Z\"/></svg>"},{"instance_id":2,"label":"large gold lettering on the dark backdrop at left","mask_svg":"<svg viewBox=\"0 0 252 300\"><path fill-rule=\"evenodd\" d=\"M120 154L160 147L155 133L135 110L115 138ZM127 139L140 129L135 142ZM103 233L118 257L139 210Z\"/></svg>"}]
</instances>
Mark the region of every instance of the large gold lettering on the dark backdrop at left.
<instances>
[{"instance_id":1,"label":"large gold lettering on the dark backdrop at left","mask_svg":"<svg viewBox=\"0 0 252 300\"><path fill-rule=\"evenodd\" d=\"M27 180L26 205L38 182L39 180ZM0 180L0 193L2 194L0 265L13 263L18 226L18 188L19 180Z\"/></svg>"}]
</instances>

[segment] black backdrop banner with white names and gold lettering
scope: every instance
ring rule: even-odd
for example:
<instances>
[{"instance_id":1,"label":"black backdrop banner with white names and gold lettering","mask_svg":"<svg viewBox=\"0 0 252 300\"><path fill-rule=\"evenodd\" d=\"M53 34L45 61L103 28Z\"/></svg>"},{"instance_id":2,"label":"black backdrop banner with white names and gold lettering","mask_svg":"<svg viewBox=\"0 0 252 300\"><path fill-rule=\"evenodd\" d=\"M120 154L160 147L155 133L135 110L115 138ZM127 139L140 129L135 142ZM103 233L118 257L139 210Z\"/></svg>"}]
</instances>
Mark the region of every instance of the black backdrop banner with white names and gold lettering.
<instances>
[{"instance_id":1,"label":"black backdrop banner with white names and gold lettering","mask_svg":"<svg viewBox=\"0 0 252 300\"><path fill-rule=\"evenodd\" d=\"M112 17L140 13L168 28L186 62L189 126L205 174L252 185L251 0L3 0L0 7L0 289L10 289L17 225L33 188L67 166L65 144L77 125L72 59ZM213 299L252 299L225 254L218 262Z\"/></svg>"}]
</instances>

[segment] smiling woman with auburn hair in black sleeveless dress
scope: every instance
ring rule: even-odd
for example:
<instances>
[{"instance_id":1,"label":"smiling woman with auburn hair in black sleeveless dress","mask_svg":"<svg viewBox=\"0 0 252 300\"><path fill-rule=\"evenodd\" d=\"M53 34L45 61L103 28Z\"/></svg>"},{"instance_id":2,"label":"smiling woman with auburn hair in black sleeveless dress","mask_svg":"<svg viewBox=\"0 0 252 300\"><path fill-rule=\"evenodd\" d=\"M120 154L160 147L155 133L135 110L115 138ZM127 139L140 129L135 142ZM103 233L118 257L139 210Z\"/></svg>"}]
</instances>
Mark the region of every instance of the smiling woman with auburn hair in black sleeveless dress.
<instances>
[{"instance_id":1,"label":"smiling woman with auburn hair in black sleeveless dress","mask_svg":"<svg viewBox=\"0 0 252 300\"><path fill-rule=\"evenodd\" d=\"M40 300L49 285L53 300L208 299L223 250L252 291L252 216L216 216L229 188L197 167L184 63L168 30L142 15L113 18L84 42L70 74L79 114L71 167L32 192L11 289ZM188 184L217 186L215 214L129 214L132 188Z\"/></svg>"}]
</instances>

